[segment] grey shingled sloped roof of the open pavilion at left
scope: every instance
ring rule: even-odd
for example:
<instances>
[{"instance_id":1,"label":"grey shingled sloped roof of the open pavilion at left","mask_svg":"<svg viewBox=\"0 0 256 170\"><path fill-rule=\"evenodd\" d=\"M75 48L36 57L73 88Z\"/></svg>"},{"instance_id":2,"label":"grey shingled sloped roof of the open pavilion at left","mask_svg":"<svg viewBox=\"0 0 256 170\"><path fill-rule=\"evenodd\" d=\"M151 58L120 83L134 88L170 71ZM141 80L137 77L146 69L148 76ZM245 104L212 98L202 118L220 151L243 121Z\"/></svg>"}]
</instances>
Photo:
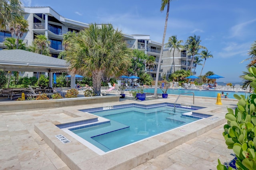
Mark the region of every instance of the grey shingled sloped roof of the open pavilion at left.
<instances>
[{"instance_id":1,"label":"grey shingled sloped roof of the open pavilion at left","mask_svg":"<svg viewBox=\"0 0 256 170\"><path fill-rule=\"evenodd\" d=\"M65 60L25 50L0 50L0 69L5 71L62 72L68 70Z\"/></svg>"}]
</instances>

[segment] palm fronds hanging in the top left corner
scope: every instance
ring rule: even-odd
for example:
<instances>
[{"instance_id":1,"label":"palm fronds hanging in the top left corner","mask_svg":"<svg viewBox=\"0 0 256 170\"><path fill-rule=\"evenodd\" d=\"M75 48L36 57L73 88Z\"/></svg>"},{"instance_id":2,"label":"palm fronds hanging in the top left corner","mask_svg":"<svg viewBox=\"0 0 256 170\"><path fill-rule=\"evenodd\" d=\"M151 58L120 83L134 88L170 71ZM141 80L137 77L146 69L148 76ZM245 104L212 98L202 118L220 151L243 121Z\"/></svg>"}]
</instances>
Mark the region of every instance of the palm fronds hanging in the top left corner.
<instances>
[{"instance_id":1,"label":"palm fronds hanging in the top left corner","mask_svg":"<svg viewBox=\"0 0 256 170\"><path fill-rule=\"evenodd\" d=\"M0 0L0 29L6 29L6 25L20 15L21 6L20 0Z\"/></svg>"}]
</instances>

